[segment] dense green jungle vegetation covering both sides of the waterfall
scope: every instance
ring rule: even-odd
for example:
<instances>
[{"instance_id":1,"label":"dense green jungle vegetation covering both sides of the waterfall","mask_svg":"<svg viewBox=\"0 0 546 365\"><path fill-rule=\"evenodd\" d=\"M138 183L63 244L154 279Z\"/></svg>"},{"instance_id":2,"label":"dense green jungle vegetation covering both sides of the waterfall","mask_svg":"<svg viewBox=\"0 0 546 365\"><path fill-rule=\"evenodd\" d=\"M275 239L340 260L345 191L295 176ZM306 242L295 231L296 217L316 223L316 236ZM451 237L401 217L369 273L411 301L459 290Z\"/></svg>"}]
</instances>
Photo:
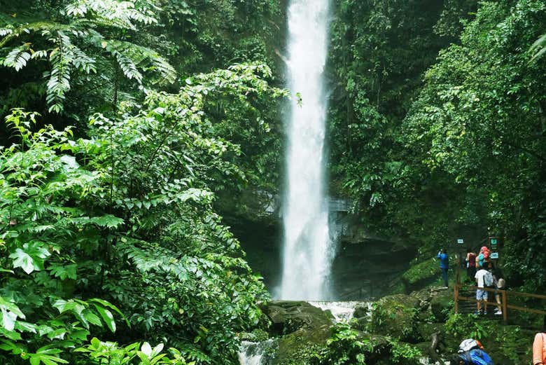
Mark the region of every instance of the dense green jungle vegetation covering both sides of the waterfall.
<instances>
[{"instance_id":1,"label":"dense green jungle vegetation covering both sides of the waterfall","mask_svg":"<svg viewBox=\"0 0 546 365\"><path fill-rule=\"evenodd\" d=\"M331 193L544 291L544 1L332 3ZM269 294L219 207L281 186L286 4L0 6L1 364L237 364Z\"/></svg>"}]
</instances>

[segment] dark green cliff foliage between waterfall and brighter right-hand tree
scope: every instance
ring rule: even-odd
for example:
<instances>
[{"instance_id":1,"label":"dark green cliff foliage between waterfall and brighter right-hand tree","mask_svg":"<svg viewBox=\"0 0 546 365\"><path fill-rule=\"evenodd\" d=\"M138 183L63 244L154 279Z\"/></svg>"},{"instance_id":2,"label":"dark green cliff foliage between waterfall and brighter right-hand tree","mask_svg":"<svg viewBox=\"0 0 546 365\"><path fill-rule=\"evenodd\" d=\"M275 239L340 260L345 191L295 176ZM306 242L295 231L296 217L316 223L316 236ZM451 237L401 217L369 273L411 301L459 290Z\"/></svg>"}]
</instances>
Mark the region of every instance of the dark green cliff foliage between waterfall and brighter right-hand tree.
<instances>
[{"instance_id":1,"label":"dark green cliff foliage between waterfall and brighter right-hand tree","mask_svg":"<svg viewBox=\"0 0 546 365\"><path fill-rule=\"evenodd\" d=\"M475 6L463 0L337 2L330 165L336 190L353 200L370 230L428 246L437 245L436 233L454 221L438 214L452 188L435 177L431 186L422 184L426 169L412 164L400 125L419 95L423 72Z\"/></svg>"}]
</instances>

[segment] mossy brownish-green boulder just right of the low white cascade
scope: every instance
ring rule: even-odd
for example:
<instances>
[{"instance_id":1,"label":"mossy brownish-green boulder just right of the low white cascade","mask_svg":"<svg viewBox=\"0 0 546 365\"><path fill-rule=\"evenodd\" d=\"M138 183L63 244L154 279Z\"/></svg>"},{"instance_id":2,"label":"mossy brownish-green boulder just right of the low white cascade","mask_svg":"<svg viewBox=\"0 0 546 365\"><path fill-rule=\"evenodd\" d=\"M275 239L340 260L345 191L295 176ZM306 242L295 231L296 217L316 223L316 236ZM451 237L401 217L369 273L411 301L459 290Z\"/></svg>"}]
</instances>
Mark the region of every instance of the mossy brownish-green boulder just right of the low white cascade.
<instances>
[{"instance_id":1,"label":"mossy brownish-green boulder just right of the low white cascade","mask_svg":"<svg viewBox=\"0 0 546 365\"><path fill-rule=\"evenodd\" d=\"M419 299L405 294L386 296L372 305L370 331L399 340L414 341Z\"/></svg>"}]
</instances>

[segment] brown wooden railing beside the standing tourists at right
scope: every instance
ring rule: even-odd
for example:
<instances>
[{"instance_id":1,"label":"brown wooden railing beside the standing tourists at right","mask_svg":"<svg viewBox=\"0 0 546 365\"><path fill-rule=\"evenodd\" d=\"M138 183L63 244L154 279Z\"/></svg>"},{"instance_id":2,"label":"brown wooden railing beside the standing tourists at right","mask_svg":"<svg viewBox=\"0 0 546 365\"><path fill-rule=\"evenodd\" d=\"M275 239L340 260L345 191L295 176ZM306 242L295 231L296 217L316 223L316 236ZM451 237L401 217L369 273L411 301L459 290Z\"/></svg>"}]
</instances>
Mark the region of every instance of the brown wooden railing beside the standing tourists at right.
<instances>
[{"instance_id":1,"label":"brown wooden railing beside the standing tourists at right","mask_svg":"<svg viewBox=\"0 0 546 365\"><path fill-rule=\"evenodd\" d=\"M470 298L468 296L459 295L459 292L463 289L463 284L461 284L461 282L459 280L459 277L460 277L459 273L457 273L457 280L456 280L456 284L455 284L455 287L454 287L454 290L453 290L454 302L455 302L454 310L455 310L456 313L458 312L458 302L459 301L469 301L469 302L472 302L472 303L477 303L478 302L476 300L476 298ZM544 296L544 295L523 293L521 291L510 291L510 290L503 290L503 289L496 289L496 288L478 288L478 287L473 287L473 286L465 286L464 289L470 289L470 290L482 289L484 291L488 291L489 293L493 294L493 299L494 299L495 294L500 294L500 296L501 296L500 305L503 308L503 320L504 320L504 322L507 322L507 320L508 320L508 310L509 309L510 310L519 310L521 312L535 313L535 314L538 314L538 315L546 315L546 311L544 311L544 310L526 308L526 307L521 307L519 305L512 305L512 304L508 303L508 299L510 297L513 297L513 296L519 296L519 297L524 297L524 298L546 299L546 296ZM488 302L488 305L497 306L498 304L495 301L495 302Z\"/></svg>"}]
</instances>

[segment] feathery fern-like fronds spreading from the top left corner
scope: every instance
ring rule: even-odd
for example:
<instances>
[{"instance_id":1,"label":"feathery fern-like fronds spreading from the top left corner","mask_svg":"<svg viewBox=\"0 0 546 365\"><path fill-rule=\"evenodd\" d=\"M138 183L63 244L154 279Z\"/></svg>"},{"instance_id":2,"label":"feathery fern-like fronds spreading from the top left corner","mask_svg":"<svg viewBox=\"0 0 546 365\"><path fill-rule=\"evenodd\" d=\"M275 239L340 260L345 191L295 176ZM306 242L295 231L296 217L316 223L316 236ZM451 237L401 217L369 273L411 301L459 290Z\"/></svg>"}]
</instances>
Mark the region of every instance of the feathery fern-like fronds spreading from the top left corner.
<instances>
[{"instance_id":1,"label":"feathery fern-like fronds spreading from the top left corner","mask_svg":"<svg viewBox=\"0 0 546 365\"><path fill-rule=\"evenodd\" d=\"M19 71L30 60L49 57L51 69L45 73L47 81L46 101L49 110L60 112L66 93L71 86L71 73L90 74L96 71L97 57L111 55L125 77L142 83L144 71L152 71L159 77L155 83L172 83L176 80L174 67L155 50L127 41L107 40L102 29L136 30L137 24L151 25L157 22L154 13L146 8L137 8L135 1L76 0L66 6L69 22L31 21L20 25L9 25L0 29L0 48L10 41L31 33L46 37L50 44L38 51L31 50L29 43L8 48L0 64ZM76 44L80 46L76 46ZM83 45L83 46L81 46ZM96 55L87 49L99 48Z\"/></svg>"}]
</instances>

